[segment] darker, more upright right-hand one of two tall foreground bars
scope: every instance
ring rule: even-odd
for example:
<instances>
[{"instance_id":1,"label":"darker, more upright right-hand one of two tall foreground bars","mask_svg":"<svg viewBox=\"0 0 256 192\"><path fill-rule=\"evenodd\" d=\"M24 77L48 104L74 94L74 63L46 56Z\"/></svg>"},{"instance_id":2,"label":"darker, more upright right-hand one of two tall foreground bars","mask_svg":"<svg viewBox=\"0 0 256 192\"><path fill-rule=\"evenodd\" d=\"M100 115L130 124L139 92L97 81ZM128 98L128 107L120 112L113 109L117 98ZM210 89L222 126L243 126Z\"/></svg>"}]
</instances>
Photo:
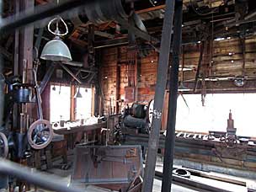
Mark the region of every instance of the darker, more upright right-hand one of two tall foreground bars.
<instances>
[{"instance_id":1,"label":"darker, more upright right-hand one of two tall foreground bars","mask_svg":"<svg viewBox=\"0 0 256 192\"><path fill-rule=\"evenodd\" d=\"M168 100L168 126L165 139L165 150L163 160L163 182L162 192L170 192L172 187L173 157L175 146L175 125L176 109L178 98L179 82L179 53L182 38L182 1L176 0L174 12L174 31L173 31L173 56L172 69L170 72L170 87Z\"/></svg>"}]
</instances>

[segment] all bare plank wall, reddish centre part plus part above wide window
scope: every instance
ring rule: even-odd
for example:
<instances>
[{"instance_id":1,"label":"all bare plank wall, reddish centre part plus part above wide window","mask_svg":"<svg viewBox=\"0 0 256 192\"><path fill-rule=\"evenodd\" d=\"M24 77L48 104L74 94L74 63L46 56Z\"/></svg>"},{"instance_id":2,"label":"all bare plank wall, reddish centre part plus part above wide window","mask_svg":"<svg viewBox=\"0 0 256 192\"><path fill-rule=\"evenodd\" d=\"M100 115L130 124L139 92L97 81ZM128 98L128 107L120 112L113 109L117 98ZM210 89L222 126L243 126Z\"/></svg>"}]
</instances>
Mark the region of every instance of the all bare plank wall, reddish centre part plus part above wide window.
<instances>
[{"instance_id":1,"label":"all bare plank wall, reddish centre part plus part above wide window","mask_svg":"<svg viewBox=\"0 0 256 192\"><path fill-rule=\"evenodd\" d=\"M226 40L207 41L205 44L202 72L205 77L237 77L242 75L243 44L240 38ZM212 47L212 49L211 49ZM195 72L200 57L200 43L183 46L184 56L180 56L180 67L190 68L184 72L184 81L195 80ZM136 67L128 67L127 47L105 48L101 67L101 86L104 93L104 113L109 112L111 100L114 112L117 95L125 100L125 87L129 85L128 74L132 72L136 76ZM256 78L256 35L245 38L245 71L247 77ZM154 97L154 89L157 80L158 54L152 51L147 57L137 57L137 101L149 102ZM120 77L117 77L117 69L120 67ZM181 74L181 72L180 72ZM119 78L120 81L117 81ZM116 82L120 85L116 87ZM232 83L232 82L231 82ZM124 106L124 104L123 104ZM123 107L122 106L122 107Z\"/></svg>"}]
</instances>

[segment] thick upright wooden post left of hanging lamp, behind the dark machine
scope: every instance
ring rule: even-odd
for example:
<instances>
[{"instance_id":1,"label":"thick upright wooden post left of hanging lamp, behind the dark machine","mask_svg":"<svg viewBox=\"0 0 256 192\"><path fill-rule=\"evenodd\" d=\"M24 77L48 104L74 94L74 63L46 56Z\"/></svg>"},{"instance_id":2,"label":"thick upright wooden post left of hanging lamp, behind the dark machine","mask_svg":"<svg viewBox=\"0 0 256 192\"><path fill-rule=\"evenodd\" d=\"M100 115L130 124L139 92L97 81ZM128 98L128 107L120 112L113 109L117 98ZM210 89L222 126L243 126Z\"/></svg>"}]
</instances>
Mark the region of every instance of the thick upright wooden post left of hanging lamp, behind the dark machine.
<instances>
[{"instance_id":1,"label":"thick upright wooden post left of hanging lamp, behind the dark machine","mask_svg":"<svg viewBox=\"0 0 256 192\"><path fill-rule=\"evenodd\" d=\"M31 10L34 8L35 1L31 0L16 0L15 12L19 13L24 10ZM14 45L14 75L23 76L23 83L34 83L33 79L33 40L34 40L34 25L29 25L23 29L16 30L15 32L15 45ZM20 109L14 106L13 109L13 125L17 132L22 131L22 126L19 125L19 115L29 115L30 118L35 119L36 113L33 113L32 104L24 104ZM26 127L27 128L27 127ZM24 128L24 131L26 130ZM35 154L35 161L37 166L40 166L40 153ZM27 165L27 160L20 161ZM24 183L21 181L21 186ZM26 187L28 186L25 184Z\"/></svg>"}]
</instances>

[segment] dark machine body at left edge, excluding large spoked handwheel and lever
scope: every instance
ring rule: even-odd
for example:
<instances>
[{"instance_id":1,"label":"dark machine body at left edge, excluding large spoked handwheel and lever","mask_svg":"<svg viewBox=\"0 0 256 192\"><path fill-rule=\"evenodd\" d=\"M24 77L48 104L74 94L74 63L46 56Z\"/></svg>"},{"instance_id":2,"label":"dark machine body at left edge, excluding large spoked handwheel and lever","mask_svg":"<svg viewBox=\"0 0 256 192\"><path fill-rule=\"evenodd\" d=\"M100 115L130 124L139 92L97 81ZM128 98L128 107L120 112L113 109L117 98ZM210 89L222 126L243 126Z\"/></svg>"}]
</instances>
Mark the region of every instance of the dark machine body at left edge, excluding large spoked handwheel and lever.
<instances>
[{"instance_id":1,"label":"dark machine body at left edge, excluding large spoked handwheel and lever","mask_svg":"<svg viewBox=\"0 0 256 192\"><path fill-rule=\"evenodd\" d=\"M10 148L13 158L24 158L29 155L25 131L29 127L29 116L20 113L18 120L14 118L14 113L18 113L22 108L26 108L26 104L32 102L34 88L33 85L22 83L19 77L6 79L5 82L7 93L1 127L2 150L0 150L0 156L7 157Z\"/></svg>"}]
</instances>

